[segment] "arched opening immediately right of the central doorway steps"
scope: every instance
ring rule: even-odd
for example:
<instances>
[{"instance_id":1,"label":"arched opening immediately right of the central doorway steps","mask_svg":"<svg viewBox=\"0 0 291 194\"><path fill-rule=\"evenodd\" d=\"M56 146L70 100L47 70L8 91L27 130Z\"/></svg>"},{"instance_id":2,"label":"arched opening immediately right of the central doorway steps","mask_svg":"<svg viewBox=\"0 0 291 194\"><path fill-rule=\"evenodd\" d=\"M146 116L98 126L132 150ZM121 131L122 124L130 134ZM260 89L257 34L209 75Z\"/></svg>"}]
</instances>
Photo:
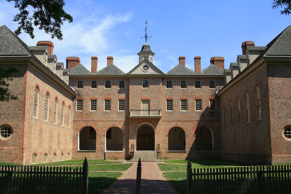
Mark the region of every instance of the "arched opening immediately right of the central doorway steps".
<instances>
[{"instance_id":1,"label":"arched opening immediately right of the central doorway steps","mask_svg":"<svg viewBox=\"0 0 291 194\"><path fill-rule=\"evenodd\" d=\"M186 150L186 134L180 127L173 127L168 133L168 150L169 151L185 151Z\"/></svg>"}]
</instances>

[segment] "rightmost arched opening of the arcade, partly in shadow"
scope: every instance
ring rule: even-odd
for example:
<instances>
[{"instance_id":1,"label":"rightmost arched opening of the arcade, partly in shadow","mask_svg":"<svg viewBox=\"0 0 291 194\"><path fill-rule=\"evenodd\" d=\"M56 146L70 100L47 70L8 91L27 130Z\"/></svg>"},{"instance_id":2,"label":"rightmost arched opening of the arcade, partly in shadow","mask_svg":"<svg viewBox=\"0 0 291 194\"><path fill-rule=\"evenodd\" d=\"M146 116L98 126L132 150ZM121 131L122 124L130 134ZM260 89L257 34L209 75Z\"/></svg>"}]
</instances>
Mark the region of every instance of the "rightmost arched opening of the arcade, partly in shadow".
<instances>
[{"instance_id":1,"label":"rightmost arched opening of the arcade, partly in shadow","mask_svg":"<svg viewBox=\"0 0 291 194\"><path fill-rule=\"evenodd\" d=\"M208 127L199 127L195 132L196 151L213 151L213 132Z\"/></svg>"}]
</instances>

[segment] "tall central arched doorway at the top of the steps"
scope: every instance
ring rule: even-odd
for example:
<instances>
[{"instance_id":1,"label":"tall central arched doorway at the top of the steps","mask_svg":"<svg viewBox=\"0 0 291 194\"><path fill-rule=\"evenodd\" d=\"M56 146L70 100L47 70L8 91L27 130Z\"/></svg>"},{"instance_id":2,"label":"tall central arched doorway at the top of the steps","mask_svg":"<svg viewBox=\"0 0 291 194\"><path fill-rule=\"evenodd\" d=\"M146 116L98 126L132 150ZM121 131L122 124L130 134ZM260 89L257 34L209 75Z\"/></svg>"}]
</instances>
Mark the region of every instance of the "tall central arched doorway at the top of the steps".
<instances>
[{"instance_id":1,"label":"tall central arched doorway at the top of the steps","mask_svg":"<svg viewBox=\"0 0 291 194\"><path fill-rule=\"evenodd\" d=\"M136 150L155 150L155 130L149 124L144 124L138 128Z\"/></svg>"}]
</instances>

